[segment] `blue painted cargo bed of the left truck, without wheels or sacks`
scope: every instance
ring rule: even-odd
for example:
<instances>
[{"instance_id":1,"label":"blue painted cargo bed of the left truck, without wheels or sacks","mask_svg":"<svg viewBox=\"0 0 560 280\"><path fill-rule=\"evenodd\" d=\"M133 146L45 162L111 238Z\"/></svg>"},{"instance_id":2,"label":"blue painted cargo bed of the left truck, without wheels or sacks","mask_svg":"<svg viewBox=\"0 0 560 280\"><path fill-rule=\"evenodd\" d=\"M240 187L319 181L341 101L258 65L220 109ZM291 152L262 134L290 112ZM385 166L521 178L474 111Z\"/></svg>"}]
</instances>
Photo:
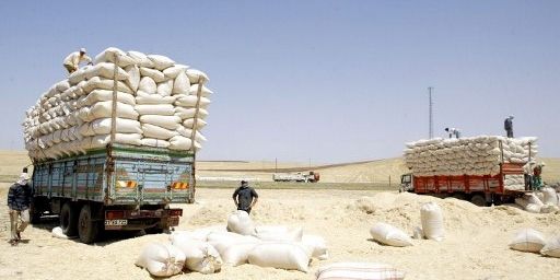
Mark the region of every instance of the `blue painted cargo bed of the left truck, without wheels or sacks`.
<instances>
[{"instance_id":1,"label":"blue painted cargo bed of the left truck, without wheels or sacks","mask_svg":"<svg viewBox=\"0 0 560 280\"><path fill-rule=\"evenodd\" d=\"M109 205L191 202L195 155L114 144L84 155L34 164L35 196Z\"/></svg>"}]
</instances>

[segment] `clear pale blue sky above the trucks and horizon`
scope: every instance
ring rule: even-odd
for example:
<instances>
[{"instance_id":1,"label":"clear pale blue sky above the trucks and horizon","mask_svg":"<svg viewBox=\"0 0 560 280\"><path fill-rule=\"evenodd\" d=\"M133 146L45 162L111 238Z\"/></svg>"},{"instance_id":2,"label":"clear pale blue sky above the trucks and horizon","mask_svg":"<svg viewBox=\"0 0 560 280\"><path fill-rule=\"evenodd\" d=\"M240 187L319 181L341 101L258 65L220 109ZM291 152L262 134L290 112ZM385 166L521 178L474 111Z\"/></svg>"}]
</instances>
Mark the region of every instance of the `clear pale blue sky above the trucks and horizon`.
<instances>
[{"instance_id":1,"label":"clear pale blue sky above the trucks and horizon","mask_svg":"<svg viewBox=\"0 0 560 280\"><path fill-rule=\"evenodd\" d=\"M2 1L0 149L80 47L165 55L215 94L201 160L400 156L434 133L539 137L560 156L560 1Z\"/></svg>"}]
</instances>

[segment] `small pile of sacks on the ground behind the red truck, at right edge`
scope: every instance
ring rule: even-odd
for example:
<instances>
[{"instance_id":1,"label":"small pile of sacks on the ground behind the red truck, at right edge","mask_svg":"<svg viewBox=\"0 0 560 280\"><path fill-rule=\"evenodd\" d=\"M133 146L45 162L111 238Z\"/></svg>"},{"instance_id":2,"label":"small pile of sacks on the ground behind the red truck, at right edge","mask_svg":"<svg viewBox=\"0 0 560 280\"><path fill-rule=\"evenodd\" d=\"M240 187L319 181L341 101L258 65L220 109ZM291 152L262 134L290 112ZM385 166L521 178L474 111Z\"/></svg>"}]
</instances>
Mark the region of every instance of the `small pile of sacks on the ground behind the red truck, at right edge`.
<instances>
[{"instance_id":1,"label":"small pile of sacks on the ground behind the red truck, at right edge","mask_svg":"<svg viewBox=\"0 0 560 280\"><path fill-rule=\"evenodd\" d=\"M515 198L515 203L532 213L553 213L560 210L560 192L551 187Z\"/></svg>"}]
</instances>

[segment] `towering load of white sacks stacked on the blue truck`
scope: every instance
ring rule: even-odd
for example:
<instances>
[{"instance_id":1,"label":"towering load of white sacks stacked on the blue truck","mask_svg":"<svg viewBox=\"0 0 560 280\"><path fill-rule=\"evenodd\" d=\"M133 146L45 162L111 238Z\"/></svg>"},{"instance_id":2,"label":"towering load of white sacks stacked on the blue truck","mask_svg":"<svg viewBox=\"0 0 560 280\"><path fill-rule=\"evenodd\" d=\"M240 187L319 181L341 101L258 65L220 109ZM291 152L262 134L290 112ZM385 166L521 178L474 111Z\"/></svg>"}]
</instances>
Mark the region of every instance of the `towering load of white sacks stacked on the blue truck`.
<instances>
[{"instance_id":1,"label":"towering load of white sacks stacked on the blue truck","mask_svg":"<svg viewBox=\"0 0 560 280\"><path fill-rule=\"evenodd\" d=\"M26 112L25 148L32 159L43 160L105 147L116 88L116 143L200 149L212 93L203 85L208 80L165 56L107 48Z\"/></svg>"}]
</instances>

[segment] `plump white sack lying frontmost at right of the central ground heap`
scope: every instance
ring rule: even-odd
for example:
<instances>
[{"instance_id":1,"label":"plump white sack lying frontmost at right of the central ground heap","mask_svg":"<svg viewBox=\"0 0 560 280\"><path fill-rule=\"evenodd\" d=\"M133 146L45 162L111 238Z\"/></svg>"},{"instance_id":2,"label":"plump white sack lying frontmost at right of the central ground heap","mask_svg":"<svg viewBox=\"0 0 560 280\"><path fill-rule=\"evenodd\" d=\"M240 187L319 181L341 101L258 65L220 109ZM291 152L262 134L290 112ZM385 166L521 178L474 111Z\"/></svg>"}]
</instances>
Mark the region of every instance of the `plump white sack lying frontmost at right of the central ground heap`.
<instances>
[{"instance_id":1,"label":"plump white sack lying frontmost at right of the central ground heap","mask_svg":"<svg viewBox=\"0 0 560 280\"><path fill-rule=\"evenodd\" d=\"M307 272L310 255L303 246L293 243L262 243L249 252L248 261L260 267L293 269Z\"/></svg>"}]
</instances>

